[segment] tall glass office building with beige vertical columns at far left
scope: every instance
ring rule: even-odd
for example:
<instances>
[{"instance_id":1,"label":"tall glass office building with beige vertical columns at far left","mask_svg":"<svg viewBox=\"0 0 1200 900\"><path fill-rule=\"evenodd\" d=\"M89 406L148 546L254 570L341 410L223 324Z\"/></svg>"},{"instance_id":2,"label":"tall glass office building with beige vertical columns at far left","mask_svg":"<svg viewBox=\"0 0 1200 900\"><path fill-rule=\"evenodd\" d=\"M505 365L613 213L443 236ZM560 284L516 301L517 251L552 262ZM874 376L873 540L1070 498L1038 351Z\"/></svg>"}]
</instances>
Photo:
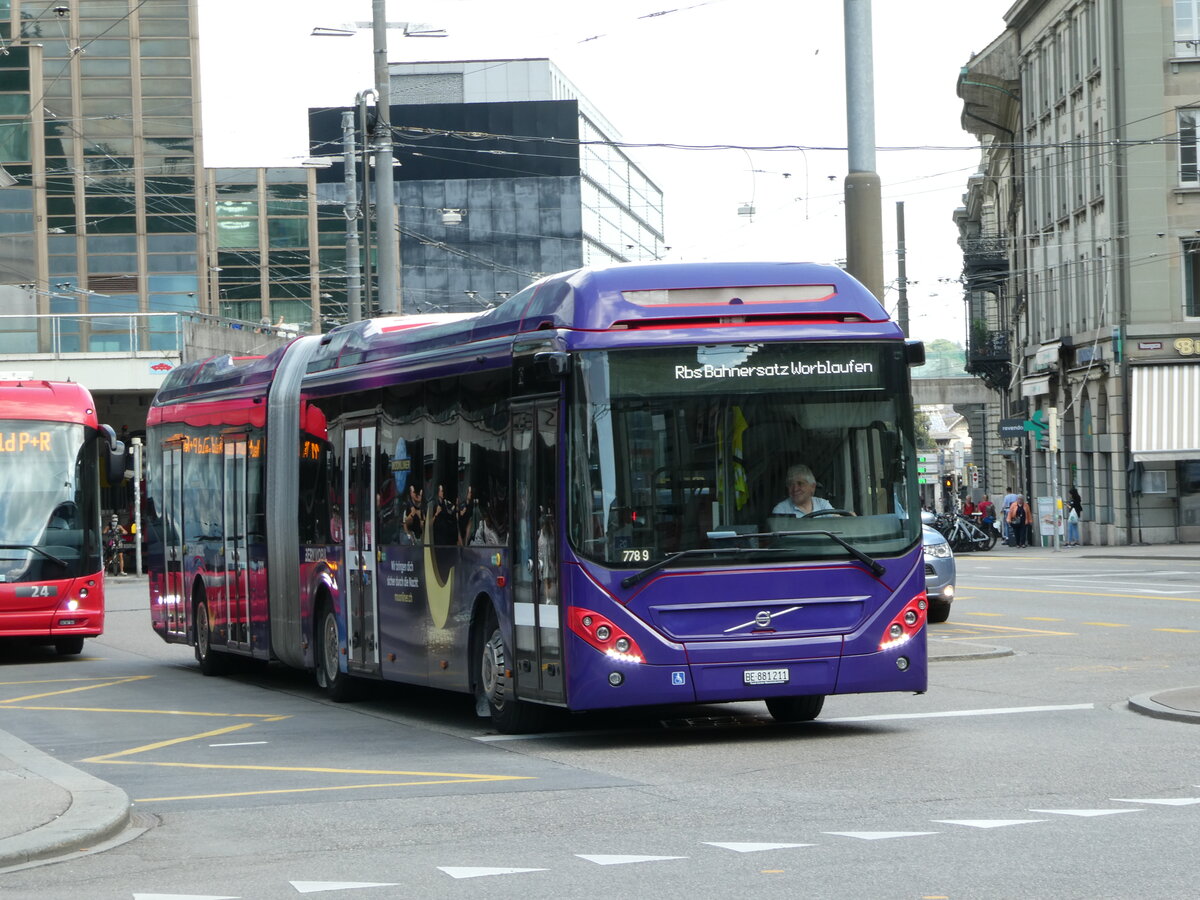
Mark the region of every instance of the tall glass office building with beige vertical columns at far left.
<instances>
[{"instance_id":1,"label":"tall glass office building with beige vertical columns at far left","mask_svg":"<svg viewBox=\"0 0 1200 900\"><path fill-rule=\"evenodd\" d=\"M0 40L2 299L88 314L64 352L128 349L100 313L203 311L196 0L0 0ZM7 352L44 341L6 324Z\"/></svg>"}]
</instances>

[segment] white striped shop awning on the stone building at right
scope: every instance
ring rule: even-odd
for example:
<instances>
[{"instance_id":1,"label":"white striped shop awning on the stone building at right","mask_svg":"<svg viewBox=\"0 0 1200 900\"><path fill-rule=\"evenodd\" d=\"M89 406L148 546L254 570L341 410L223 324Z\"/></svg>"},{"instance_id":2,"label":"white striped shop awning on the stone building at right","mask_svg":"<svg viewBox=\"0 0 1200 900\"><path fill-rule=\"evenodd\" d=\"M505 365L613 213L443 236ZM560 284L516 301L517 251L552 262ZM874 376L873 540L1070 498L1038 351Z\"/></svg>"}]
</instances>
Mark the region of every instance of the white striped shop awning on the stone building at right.
<instances>
[{"instance_id":1,"label":"white striped shop awning on the stone building at right","mask_svg":"<svg viewBox=\"0 0 1200 900\"><path fill-rule=\"evenodd\" d=\"M1200 460L1200 366L1134 366L1132 406L1135 461Z\"/></svg>"}]
</instances>

